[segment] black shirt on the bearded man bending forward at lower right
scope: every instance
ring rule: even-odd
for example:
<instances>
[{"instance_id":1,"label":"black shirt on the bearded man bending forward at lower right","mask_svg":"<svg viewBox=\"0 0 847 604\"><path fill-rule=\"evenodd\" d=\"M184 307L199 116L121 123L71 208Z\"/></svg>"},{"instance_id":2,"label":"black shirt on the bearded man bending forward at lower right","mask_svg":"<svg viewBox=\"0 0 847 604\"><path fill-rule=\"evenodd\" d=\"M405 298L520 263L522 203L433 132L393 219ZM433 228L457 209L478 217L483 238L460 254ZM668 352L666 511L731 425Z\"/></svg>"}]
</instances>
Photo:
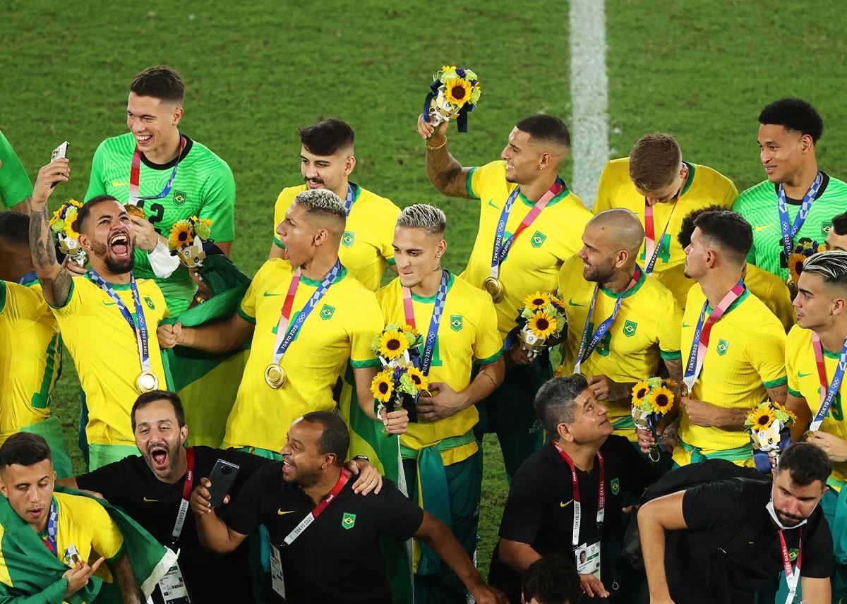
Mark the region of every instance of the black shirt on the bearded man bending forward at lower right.
<instances>
[{"instance_id":1,"label":"black shirt on the bearded man bending forward at lower right","mask_svg":"<svg viewBox=\"0 0 847 604\"><path fill-rule=\"evenodd\" d=\"M674 601L752 602L756 590L783 570L779 529L766 509L771 490L770 482L733 479L685 491L683 515L689 529L668 534L665 556ZM820 506L799 529L783 530L792 562L800 529L800 576L828 577L833 540ZM717 551L718 547L728 551Z\"/></svg>"}]
</instances>

